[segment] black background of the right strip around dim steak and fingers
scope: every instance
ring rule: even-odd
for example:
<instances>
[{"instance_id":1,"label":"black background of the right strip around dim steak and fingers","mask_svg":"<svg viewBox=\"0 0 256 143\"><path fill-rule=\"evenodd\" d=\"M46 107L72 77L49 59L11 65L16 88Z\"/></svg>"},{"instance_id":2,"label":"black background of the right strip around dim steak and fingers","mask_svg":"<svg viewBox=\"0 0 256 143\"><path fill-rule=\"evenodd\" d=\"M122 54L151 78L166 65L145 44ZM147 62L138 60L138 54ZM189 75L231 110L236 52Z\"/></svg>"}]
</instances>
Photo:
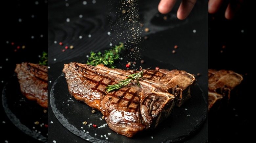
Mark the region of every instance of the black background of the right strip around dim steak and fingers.
<instances>
[{"instance_id":1,"label":"black background of the right strip around dim steak and fingers","mask_svg":"<svg viewBox=\"0 0 256 143\"><path fill-rule=\"evenodd\" d=\"M233 70L242 74L244 80L231 92L229 101L224 100L219 108L209 112L209 142L248 142L253 138L250 132L253 92L250 89L253 89L255 65L252 51L255 23L248 1L232 20L224 18L225 8L226 4L208 16L208 66Z\"/></svg>"}]
</instances>

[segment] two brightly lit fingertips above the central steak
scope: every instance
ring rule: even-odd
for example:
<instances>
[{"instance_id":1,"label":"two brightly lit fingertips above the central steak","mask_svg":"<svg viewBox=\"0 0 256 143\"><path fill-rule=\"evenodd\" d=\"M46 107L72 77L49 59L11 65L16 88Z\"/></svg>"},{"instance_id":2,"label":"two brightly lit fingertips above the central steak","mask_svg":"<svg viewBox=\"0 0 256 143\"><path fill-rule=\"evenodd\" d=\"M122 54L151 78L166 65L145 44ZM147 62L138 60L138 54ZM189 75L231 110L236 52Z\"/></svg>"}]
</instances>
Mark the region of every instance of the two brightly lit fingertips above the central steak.
<instances>
[{"instance_id":1,"label":"two brightly lit fingertips above the central steak","mask_svg":"<svg viewBox=\"0 0 256 143\"><path fill-rule=\"evenodd\" d=\"M158 11L162 14L166 14L172 10L177 0L161 0L158 5ZM187 18L192 8L194 7L196 0L182 0L180 7L177 11L177 18L184 20Z\"/></svg>"}]
</instances>

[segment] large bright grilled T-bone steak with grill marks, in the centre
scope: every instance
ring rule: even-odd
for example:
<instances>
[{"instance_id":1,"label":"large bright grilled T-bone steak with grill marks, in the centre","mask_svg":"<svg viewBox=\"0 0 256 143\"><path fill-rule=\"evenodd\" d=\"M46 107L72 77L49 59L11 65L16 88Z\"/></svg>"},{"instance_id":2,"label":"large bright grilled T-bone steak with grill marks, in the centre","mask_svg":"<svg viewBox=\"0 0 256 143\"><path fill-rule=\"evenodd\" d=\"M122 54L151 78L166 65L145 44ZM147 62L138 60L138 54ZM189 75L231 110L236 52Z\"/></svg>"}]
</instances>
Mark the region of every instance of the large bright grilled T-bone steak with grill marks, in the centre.
<instances>
[{"instance_id":1,"label":"large bright grilled T-bone steak with grill marks, in the centre","mask_svg":"<svg viewBox=\"0 0 256 143\"><path fill-rule=\"evenodd\" d=\"M63 72L70 94L101 111L112 130L128 137L155 128L170 116L175 104L181 106L191 97L191 86L196 84L195 75L186 71L145 70L140 87L135 80L107 93L108 85L139 71L72 62L64 65Z\"/></svg>"}]
</instances>

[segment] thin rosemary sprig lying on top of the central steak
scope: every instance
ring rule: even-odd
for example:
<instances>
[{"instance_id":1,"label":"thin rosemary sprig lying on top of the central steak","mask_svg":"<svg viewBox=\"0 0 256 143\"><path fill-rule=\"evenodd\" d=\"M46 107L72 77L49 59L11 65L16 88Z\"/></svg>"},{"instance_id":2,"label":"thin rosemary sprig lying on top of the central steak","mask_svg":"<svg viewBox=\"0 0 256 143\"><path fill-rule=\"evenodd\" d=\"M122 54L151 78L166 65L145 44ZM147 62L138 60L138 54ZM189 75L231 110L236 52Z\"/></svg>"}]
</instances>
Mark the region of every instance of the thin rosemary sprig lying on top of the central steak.
<instances>
[{"instance_id":1,"label":"thin rosemary sprig lying on top of the central steak","mask_svg":"<svg viewBox=\"0 0 256 143\"><path fill-rule=\"evenodd\" d=\"M141 68L141 67L140 67ZM142 69L142 68L141 68ZM150 69L150 68L148 68ZM125 80L123 81L119 81L118 84L115 84L115 85L108 85L106 87L107 89L107 93L112 91L112 90L115 90L115 89L119 89L123 86L126 86L128 83L130 83L131 81L134 81L135 79L137 80L137 85L140 87L139 85L139 77L142 77L143 76L143 71L144 70L148 70L148 69L142 69L140 72L138 73L135 73L135 74L131 74L128 76L128 78L126 78Z\"/></svg>"}]
</instances>

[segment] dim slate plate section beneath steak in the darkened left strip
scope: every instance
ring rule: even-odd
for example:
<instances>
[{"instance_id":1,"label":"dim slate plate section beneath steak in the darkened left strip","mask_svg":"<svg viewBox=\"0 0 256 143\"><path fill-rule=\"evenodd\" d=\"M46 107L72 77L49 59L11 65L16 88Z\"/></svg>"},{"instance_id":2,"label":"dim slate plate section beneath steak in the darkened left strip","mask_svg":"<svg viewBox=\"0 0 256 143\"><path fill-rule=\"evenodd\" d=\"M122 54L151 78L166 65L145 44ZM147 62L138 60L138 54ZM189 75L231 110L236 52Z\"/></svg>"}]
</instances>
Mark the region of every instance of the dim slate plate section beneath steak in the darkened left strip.
<instances>
[{"instance_id":1,"label":"dim slate plate section beneath steak in the darkened left strip","mask_svg":"<svg viewBox=\"0 0 256 143\"><path fill-rule=\"evenodd\" d=\"M21 94L16 73L3 88L2 104L6 115L18 129L38 141L48 142L48 113ZM38 124L35 123L37 121Z\"/></svg>"}]
</instances>

